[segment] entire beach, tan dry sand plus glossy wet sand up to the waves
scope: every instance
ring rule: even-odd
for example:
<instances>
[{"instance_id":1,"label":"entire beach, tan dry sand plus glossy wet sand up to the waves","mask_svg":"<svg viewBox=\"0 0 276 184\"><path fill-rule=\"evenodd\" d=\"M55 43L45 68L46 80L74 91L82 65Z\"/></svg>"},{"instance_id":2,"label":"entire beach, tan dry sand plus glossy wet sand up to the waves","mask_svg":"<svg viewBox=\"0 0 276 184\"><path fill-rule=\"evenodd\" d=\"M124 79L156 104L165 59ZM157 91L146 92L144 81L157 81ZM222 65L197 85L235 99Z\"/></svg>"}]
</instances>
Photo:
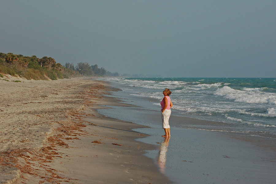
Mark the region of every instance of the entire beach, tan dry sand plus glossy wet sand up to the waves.
<instances>
[{"instance_id":1,"label":"entire beach, tan dry sand plus glossy wet sand up to the waves","mask_svg":"<svg viewBox=\"0 0 276 184\"><path fill-rule=\"evenodd\" d=\"M174 114L163 138L158 100L90 78L20 80L0 81L1 184L275 181L272 139Z\"/></svg>"}]
</instances>

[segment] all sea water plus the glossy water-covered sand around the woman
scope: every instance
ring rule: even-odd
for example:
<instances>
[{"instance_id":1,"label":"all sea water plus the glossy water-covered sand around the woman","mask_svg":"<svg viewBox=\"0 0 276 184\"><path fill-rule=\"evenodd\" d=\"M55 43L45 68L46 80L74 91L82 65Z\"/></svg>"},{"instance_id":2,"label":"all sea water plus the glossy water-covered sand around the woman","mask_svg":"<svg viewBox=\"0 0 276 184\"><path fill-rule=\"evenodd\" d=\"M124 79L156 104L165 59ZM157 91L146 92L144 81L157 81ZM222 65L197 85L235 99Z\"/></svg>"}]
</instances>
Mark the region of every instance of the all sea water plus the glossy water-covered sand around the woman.
<instances>
[{"instance_id":1,"label":"all sea water plus the glossy water-covered sand around the woman","mask_svg":"<svg viewBox=\"0 0 276 184\"><path fill-rule=\"evenodd\" d=\"M110 106L98 109L99 113L149 126L135 129L151 135L139 141L160 148L145 155L174 183L274 183L276 79L99 80L121 90L110 96L135 105ZM173 102L169 139L161 136L165 88L171 89Z\"/></svg>"}]
</instances>

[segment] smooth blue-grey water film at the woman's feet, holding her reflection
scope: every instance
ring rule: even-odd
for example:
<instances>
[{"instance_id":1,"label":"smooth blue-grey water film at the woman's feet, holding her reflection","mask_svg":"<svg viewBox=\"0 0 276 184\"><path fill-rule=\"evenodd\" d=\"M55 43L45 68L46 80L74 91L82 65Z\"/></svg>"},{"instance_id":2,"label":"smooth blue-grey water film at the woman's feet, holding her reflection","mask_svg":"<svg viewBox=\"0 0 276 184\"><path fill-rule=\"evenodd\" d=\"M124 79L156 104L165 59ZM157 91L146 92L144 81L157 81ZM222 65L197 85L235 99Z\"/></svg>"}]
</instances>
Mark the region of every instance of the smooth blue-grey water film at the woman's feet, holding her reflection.
<instances>
[{"instance_id":1,"label":"smooth blue-grey water film at the woman's feet, holding her reflection","mask_svg":"<svg viewBox=\"0 0 276 184\"><path fill-rule=\"evenodd\" d=\"M276 178L275 164L271 157L267 159L273 152L256 150L255 146L219 132L172 128L172 137L166 140L160 137L163 130L159 128L135 130L151 134L140 141L160 145L160 150L145 155L155 159L160 172L177 184L259 184L274 183Z\"/></svg>"}]
</instances>

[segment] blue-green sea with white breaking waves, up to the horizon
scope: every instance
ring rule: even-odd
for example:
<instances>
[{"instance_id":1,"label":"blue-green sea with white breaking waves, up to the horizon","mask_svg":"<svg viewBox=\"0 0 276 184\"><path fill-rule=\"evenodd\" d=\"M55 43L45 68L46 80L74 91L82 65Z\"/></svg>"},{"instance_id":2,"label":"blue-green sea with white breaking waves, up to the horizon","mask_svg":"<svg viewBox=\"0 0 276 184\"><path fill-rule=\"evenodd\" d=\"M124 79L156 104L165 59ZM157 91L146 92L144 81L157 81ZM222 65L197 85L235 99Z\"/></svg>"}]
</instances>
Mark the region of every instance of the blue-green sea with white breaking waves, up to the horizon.
<instances>
[{"instance_id":1,"label":"blue-green sea with white breaking waves, up to the horizon","mask_svg":"<svg viewBox=\"0 0 276 184\"><path fill-rule=\"evenodd\" d=\"M257 136L264 134L276 136L275 78L104 78L102 80L117 84L118 88L133 96L153 98L160 102L163 98L162 91L169 88L172 91L171 100L174 104L172 111L177 110L177 116L224 122L229 125L230 130L252 132ZM159 102L153 104L160 106ZM224 130L220 128L218 131Z\"/></svg>"}]
</instances>

